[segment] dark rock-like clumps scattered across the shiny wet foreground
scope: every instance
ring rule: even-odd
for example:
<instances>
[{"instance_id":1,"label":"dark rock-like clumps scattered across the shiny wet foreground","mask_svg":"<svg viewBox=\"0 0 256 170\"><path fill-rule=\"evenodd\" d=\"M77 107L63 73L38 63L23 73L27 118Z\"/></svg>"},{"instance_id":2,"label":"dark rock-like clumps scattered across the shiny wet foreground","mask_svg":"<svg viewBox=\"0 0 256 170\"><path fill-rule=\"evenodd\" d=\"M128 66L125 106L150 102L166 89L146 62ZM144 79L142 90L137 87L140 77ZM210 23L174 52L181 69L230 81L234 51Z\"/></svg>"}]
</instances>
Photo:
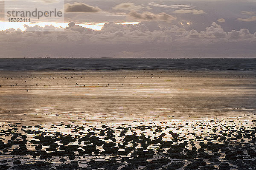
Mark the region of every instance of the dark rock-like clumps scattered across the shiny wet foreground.
<instances>
[{"instance_id":1,"label":"dark rock-like clumps scattered across the shiny wet foreground","mask_svg":"<svg viewBox=\"0 0 256 170\"><path fill-rule=\"evenodd\" d=\"M202 131L186 132L185 127ZM48 129L2 124L0 128L0 170L256 169L255 127L212 128L196 122L190 126L61 124Z\"/></svg>"}]
</instances>

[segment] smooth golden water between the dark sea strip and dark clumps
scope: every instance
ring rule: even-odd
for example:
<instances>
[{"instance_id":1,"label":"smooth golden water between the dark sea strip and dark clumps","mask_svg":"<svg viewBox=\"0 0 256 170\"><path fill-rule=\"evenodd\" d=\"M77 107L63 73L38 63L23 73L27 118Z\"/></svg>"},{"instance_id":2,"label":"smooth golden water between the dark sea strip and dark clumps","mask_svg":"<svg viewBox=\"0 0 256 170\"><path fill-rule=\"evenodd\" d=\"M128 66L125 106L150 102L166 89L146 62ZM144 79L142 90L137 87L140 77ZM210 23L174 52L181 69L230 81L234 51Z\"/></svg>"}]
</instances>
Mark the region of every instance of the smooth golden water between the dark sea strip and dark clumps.
<instances>
[{"instance_id":1,"label":"smooth golden water between the dark sea strip and dark clumps","mask_svg":"<svg viewBox=\"0 0 256 170\"><path fill-rule=\"evenodd\" d=\"M206 119L256 113L255 72L2 71L0 85L3 122Z\"/></svg>"}]
</instances>

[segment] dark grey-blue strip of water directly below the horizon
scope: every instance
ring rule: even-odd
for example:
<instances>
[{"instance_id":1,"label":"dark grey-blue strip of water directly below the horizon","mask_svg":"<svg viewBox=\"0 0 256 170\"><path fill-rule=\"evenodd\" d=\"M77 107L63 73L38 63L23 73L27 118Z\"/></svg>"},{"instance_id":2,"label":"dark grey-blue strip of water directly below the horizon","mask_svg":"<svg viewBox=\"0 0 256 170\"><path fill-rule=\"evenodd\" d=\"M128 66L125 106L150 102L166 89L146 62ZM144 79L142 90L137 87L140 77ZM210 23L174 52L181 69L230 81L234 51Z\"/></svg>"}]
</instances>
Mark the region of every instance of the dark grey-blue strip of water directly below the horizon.
<instances>
[{"instance_id":1,"label":"dark grey-blue strip of water directly below the horizon","mask_svg":"<svg viewBox=\"0 0 256 170\"><path fill-rule=\"evenodd\" d=\"M256 71L256 58L0 58L0 71Z\"/></svg>"}]
</instances>

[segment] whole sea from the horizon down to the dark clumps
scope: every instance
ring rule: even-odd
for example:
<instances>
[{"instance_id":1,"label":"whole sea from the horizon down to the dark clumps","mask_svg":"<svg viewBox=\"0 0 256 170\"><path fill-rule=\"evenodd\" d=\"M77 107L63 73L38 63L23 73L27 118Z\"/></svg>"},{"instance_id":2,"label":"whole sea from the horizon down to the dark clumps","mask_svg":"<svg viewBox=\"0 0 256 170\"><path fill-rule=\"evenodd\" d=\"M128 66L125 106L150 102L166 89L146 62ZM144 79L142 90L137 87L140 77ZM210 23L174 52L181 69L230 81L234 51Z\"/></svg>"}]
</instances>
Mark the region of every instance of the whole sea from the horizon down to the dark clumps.
<instances>
[{"instance_id":1,"label":"whole sea from the horizon down to the dark clumps","mask_svg":"<svg viewBox=\"0 0 256 170\"><path fill-rule=\"evenodd\" d=\"M0 85L1 122L256 114L256 58L0 58Z\"/></svg>"}]
</instances>

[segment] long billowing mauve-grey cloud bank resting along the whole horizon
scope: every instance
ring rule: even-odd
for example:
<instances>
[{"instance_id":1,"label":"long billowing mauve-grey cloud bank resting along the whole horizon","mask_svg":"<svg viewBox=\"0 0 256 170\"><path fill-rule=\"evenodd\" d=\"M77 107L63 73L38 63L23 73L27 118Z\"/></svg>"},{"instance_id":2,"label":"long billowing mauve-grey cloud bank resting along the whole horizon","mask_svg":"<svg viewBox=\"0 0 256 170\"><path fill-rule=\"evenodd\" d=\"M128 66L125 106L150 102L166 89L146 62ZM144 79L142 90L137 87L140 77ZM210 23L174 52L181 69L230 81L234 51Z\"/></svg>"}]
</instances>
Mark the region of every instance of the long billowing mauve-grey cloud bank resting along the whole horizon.
<instances>
[{"instance_id":1,"label":"long billowing mauve-grey cloud bank resting along the whole horizon","mask_svg":"<svg viewBox=\"0 0 256 170\"><path fill-rule=\"evenodd\" d=\"M73 22L68 25L64 31L44 31L39 26L26 26L31 32L0 31L0 57L255 56L256 33L251 34L248 29L226 32L217 23L204 31L176 25L160 27L155 20L135 25L110 22L100 31ZM29 51L23 48L24 44Z\"/></svg>"}]
</instances>

